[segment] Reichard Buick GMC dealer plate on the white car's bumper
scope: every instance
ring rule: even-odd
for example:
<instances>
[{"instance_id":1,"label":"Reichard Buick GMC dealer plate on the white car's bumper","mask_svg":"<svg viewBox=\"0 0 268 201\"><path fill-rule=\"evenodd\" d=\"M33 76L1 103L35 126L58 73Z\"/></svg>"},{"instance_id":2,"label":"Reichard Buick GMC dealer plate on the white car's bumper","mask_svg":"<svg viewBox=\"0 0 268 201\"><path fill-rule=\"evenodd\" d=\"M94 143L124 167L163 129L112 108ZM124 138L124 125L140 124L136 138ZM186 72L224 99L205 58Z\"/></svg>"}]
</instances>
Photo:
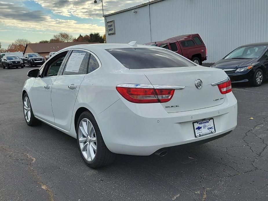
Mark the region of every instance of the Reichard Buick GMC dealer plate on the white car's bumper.
<instances>
[{"instance_id":1,"label":"Reichard Buick GMC dealer plate on the white car's bumper","mask_svg":"<svg viewBox=\"0 0 268 201\"><path fill-rule=\"evenodd\" d=\"M193 122L193 126L194 126L194 135L196 138L216 133L213 118L195 121Z\"/></svg>"}]
</instances>

